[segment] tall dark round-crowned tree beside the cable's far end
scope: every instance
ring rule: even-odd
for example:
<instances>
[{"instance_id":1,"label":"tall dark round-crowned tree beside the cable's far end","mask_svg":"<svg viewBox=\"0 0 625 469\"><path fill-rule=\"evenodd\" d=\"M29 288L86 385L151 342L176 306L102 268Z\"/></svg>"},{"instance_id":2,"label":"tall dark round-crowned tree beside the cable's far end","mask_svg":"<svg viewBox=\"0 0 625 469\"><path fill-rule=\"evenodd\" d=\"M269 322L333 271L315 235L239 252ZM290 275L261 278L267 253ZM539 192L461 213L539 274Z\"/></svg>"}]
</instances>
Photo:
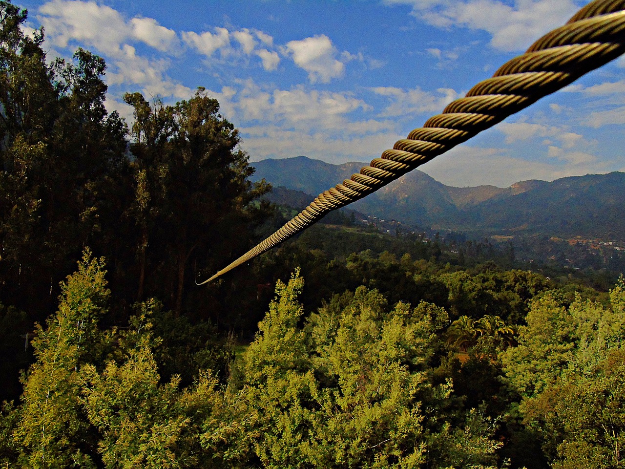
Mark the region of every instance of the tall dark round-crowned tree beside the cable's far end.
<instances>
[{"instance_id":1,"label":"tall dark round-crowned tree beside the cable's far end","mask_svg":"<svg viewBox=\"0 0 625 469\"><path fill-rule=\"evenodd\" d=\"M254 169L237 148L239 133L203 88L175 106L150 104L139 93L124 99L135 116L129 212L139 233L138 296L164 290L163 300L180 313L193 265L212 270L247 244L244 233L262 214L251 202L269 186L249 182Z\"/></svg>"}]
</instances>

